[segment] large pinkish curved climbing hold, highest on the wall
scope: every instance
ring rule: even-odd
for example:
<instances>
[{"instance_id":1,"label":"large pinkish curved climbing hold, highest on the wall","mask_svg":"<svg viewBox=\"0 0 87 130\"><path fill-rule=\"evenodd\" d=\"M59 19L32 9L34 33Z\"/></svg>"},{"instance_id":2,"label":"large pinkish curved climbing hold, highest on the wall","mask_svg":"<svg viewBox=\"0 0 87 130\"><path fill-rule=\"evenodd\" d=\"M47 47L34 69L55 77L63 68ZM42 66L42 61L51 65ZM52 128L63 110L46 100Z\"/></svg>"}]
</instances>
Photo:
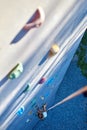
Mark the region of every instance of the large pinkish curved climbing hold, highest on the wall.
<instances>
[{"instance_id":1,"label":"large pinkish curved climbing hold, highest on the wall","mask_svg":"<svg viewBox=\"0 0 87 130\"><path fill-rule=\"evenodd\" d=\"M45 13L42 7L38 7L31 22L24 26L25 30L29 30L33 27L40 27L45 21Z\"/></svg>"}]
</instances>

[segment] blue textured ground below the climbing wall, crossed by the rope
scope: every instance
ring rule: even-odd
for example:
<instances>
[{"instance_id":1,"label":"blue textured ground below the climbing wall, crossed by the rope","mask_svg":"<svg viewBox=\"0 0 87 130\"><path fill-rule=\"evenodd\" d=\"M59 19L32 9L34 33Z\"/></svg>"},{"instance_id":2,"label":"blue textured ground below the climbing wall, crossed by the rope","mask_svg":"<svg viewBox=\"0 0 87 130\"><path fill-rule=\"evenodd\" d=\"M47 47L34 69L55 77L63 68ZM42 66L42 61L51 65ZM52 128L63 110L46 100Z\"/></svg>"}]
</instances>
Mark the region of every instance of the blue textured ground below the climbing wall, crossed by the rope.
<instances>
[{"instance_id":1,"label":"blue textured ground below the climbing wall, crossed by the rope","mask_svg":"<svg viewBox=\"0 0 87 130\"><path fill-rule=\"evenodd\" d=\"M57 91L55 103L87 85L73 58L64 80ZM48 117L39 121L33 130L87 130L87 98L80 95L48 112Z\"/></svg>"}]
</instances>

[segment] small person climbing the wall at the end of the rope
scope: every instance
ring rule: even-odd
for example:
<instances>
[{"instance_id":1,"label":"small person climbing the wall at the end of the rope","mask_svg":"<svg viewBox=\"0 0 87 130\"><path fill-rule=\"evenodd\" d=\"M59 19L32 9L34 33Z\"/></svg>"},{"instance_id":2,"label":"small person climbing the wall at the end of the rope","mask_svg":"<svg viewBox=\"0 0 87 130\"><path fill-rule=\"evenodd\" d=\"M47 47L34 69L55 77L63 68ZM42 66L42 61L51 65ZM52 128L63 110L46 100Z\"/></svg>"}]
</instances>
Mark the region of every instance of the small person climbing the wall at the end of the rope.
<instances>
[{"instance_id":1,"label":"small person climbing the wall at the end of the rope","mask_svg":"<svg viewBox=\"0 0 87 130\"><path fill-rule=\"evenodd\" d=\"M47 110L46 110L46 104L42 106L42 109L38 108L37 114L40 119L44 119L47 117Z\"/></svg>"}]
</instances>

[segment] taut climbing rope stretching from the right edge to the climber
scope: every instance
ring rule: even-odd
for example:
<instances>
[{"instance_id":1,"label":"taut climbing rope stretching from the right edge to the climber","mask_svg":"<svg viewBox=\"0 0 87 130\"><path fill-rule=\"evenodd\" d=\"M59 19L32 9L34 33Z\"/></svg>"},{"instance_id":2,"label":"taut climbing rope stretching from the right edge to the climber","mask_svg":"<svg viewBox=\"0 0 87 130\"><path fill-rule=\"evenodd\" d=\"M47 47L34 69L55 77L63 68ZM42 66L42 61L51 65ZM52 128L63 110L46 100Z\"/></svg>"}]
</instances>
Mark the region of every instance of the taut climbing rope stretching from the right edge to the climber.
<instances>
[{"instance_id":1,"label":"taut climbing rope stretching from the right edge to the climber","mask_svg":"<svg viewBox=\"0 0 87 130\"><path fill-rule=\"evenodd\" d=\"M47 111L49 111L49 110L51 110L51 109L54 109L55 107L57 107L57 106L63 104L64 102L66 102L66 101L68 101L68 100L70 100L70 99L72 99L72 98L74 98L74 97L76 97L76 96L79 96L80 94L83 94L83 93L85 93L85 92L87 92L87 86L85 86L85 87L83 87L83 88L77 90L76 92L72 93L72 94L69 95L68 97L64 98L62 101L60 101L60 102L56 103L55 105L53 105L52 107L50 107Z\"/></svg>"}]
</instances>

